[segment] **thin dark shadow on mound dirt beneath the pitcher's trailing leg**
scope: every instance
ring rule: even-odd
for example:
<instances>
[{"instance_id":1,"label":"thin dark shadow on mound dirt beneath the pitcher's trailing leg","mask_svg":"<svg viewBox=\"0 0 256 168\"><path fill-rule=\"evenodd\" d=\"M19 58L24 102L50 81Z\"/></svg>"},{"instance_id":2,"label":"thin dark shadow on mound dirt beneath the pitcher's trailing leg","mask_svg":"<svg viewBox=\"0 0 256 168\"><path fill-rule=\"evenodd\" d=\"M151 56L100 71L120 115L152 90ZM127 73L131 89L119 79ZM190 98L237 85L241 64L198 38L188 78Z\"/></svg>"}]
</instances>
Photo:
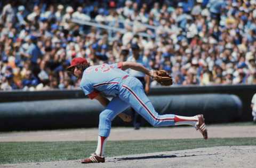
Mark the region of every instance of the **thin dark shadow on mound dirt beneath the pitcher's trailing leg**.
<instances>
[{"instance_id":1,"label":"thin dark shadow on mound dirt beneath the pitcher's trailing leg","mask_svg":"<svg viewBox=\"0 0 256 168\"><path fill-rule=\"evenodd\" d=\"M210 156L210 155L218 155L216 154L202 154L202 155L183 155L183 156L177 156L177 155L153 155L153 156L140 156L140 157L124 157L124 158L114 158L114 162L118 161L129 161L129 160L139 160L139 159L151 159L151 158L173 158L173 157L192 157L192 156Z\"/></svg>"}]
</instances>

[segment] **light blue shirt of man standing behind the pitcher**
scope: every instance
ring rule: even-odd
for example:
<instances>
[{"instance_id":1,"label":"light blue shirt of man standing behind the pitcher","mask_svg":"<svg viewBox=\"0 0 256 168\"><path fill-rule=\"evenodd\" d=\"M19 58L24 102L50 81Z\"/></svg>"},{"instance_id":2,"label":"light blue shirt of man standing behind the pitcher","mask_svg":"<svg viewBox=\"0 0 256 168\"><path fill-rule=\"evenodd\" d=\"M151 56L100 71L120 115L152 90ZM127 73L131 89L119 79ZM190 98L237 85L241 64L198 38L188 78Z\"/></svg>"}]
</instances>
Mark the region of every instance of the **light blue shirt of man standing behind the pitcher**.
<instances>
[{"instance_id":1,"label":"light blue shirt of man standing behind the pitcher","mask_svg":"<svg viewBox=\"0 0 256 168\"><path fill-rule=\"evenodd\" d=\"M140 63L144 67L150 69L148 59L146 57L143 57L142 55L140 55L138 60L135 60L135 58L131 56L131 57L127 58L127 61ZM133 69L127 69L126 71L127 71L127 73L129 73L129 75L134 76L134 77L145 77L145 74L142 73L141 71L137 71L137 70L133 70Z\"/></svg>"}]
</instances>

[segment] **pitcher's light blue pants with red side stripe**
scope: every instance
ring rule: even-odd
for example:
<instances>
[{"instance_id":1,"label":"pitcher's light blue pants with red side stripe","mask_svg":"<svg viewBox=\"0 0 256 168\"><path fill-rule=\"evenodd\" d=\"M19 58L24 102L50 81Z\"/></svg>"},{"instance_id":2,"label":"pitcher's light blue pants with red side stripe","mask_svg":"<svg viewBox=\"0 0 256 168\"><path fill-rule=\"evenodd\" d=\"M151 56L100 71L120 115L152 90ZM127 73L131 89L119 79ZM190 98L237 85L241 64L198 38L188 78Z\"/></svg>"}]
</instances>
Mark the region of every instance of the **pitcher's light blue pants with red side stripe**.
<instances>
[{"instance_id":1,"label":"pitcher's light blue pants with red side stripe","mask_svg":"<svg viewBox=\"0 0 256 168\"><path fill-rule=\"evenodd\" d=\"M155 111L144 92L143 85L137 78L127 77L119 83L118 97L114 97L100 113L99 135L108 137L111 121L130 106L153 126L171 126L175 124L174 115L159 115Z\"/></svg>"}]
</instances>

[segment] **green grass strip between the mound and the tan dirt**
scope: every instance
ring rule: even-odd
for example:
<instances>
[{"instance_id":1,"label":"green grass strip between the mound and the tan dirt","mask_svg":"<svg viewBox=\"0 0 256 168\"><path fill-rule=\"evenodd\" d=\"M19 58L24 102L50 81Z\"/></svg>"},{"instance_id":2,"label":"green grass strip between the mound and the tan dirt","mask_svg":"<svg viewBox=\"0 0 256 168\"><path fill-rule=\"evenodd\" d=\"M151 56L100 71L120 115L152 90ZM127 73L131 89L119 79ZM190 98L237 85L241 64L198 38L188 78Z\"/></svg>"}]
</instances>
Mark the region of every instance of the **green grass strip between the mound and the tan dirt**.
<instances>
[{"instance_id":1,"label":"green grass strip between the mound and the tan dirt","mask_svg":"<svg viewBox=\"0 0 256 168\"><path fill-rule=\"evenodd\" d=\"M214 146L256 145L256 138L108 141L107 156L153 153ZM96 141L0 142L0 164L81 159L94 152Z\"/></svg>"}]
</instances>

